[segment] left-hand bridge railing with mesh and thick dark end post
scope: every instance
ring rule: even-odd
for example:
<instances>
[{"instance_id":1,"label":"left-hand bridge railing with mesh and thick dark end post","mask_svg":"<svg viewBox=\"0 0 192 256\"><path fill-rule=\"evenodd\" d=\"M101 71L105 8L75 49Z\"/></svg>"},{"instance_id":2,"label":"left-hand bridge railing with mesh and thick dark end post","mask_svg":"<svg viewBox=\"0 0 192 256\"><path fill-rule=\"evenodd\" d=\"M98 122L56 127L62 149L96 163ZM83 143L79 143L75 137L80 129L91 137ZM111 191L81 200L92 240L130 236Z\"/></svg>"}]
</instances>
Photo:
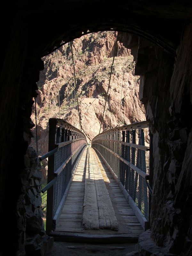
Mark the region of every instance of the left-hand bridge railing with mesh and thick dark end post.
<instances>
[{"instance_id":1,"label":"left-hand bridge railing with mesh and thick dark end post","mask_svg":"<svg viewBox=\"0 0 192 256\"><path fill-rule=\"evenodd\" d=\"M87 141L83 132L58 118L49 119L49 152L40 157L48 157L46 233L51 232L59 220L65 203L70 181Z\"/></svg>"}]
</instances>

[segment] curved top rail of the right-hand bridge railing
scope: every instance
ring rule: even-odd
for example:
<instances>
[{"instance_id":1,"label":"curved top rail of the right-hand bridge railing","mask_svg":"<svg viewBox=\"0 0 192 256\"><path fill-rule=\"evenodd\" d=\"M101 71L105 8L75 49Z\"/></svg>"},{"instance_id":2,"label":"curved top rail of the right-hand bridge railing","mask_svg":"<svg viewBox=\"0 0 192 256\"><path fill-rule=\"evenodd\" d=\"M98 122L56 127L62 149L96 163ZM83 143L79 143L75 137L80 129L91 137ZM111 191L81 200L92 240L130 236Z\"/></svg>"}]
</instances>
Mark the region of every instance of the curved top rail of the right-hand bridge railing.
<instances>
[{"instance_id":1,"label":"curved top rail of the right-hand bridge railing","mask_svg":"<svg viewBox=\"0 0 192 256\"><path fill-rule=\"evenodd\" d=\"M149 122L148 121L141 121L141 122L135 122L132 124L126 124L120 127L115 127L113 129L109 129L107 131L101 132L100 134L96 135L93 140L95 140L98 136L103 135L105 133L109 132L119 132L119 131L128 131L132 129L140 129L140 128L148 128L149 127ZM92 141L93 141L92 140Z\"/></svg>"}]
</instances>

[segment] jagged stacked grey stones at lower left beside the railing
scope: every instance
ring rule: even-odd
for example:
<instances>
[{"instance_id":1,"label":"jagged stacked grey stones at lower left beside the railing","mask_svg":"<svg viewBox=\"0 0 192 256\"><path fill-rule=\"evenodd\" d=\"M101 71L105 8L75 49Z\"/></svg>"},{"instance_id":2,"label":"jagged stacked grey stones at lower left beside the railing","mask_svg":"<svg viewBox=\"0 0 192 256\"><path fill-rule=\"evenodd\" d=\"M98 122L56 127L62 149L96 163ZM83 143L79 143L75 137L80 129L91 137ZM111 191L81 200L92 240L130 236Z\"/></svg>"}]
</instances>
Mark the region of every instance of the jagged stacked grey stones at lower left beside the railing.
<instances>
[{"instance_id":1,"label":"jagged stacked grey stones at lower left beside the railing","mask_svg":"<svg viewBox=\"0 0 192 256\"><path fill-rule=\"evenodd\" d=\"M46 255L53 245L53 237L45 235L41 210L42 172L38 155L28 147L25 155L25 169L22 174L25 200L25 253L27 255ZM24 221L23 221L24 223ZM21 225L20 228L24 226Z\"/></svg>"}]
</instances>

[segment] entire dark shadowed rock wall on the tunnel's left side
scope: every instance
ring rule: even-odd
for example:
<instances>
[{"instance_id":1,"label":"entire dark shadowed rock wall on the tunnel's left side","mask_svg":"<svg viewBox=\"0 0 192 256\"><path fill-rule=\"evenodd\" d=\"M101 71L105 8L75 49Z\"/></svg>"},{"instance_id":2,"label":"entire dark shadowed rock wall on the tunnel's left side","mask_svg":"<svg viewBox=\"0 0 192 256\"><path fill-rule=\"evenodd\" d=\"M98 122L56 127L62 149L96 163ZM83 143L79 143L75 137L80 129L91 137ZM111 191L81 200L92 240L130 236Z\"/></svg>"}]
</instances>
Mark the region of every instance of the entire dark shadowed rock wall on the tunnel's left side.
<instances>
[{"instance_id":1,"label":"entire dark shadowed rock wall on the tunnel's left side","mask_svg":"<svg viewBox=\"0 0 192 256\"><path fill-rule=\"evenodd\" d=\"M44 256L52 240L44 235L42 226L37 155L28 148L34 127L30 118L32 99L37 96L36 82L44 65L40 58L28 55L19 21L14 24L6 54L0 80L0 254Z\"/></svg>"}]
</instances>

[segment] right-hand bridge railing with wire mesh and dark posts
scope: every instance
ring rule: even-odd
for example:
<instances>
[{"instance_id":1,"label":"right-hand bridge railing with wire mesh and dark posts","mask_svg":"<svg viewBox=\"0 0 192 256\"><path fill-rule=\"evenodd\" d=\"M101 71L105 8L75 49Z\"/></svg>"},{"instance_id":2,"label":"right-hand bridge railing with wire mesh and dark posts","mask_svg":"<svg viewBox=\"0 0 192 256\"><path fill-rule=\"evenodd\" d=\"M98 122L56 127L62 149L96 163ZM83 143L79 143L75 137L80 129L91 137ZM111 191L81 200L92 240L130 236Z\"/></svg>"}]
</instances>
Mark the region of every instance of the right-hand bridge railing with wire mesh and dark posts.
<instances>
[{"instance_id":1,"label":"right-hand bridge railing with wire mesh and dark posts","mask_svg":"<svg viewBox=\"0 0 192 256\"><path fill-rule=\"evenodd\" d=\"M92 140L92 148L100 153L126 190L127 200L144 229L148 228L152 193L148 182L149 134L149 123L143 121L102 132Z\"/></svg>"}]
</instances>

